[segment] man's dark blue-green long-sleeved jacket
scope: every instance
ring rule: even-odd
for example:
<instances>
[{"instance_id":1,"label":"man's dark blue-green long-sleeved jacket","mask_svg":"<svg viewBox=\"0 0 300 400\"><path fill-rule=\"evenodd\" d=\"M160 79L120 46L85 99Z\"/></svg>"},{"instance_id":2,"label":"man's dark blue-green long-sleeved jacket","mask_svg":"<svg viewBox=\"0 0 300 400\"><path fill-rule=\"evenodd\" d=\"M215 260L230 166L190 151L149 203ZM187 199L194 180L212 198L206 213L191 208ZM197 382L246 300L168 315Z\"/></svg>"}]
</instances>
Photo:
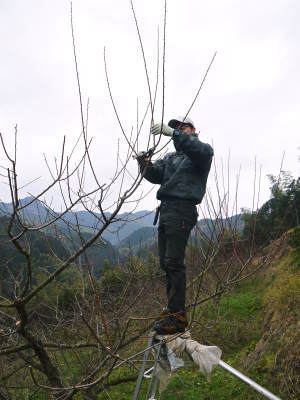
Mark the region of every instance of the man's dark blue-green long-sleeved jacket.
<instances>
[{"instance_id":1,"label":"man's dark blue-green long-sleeved jacket","mask_svg":"<svg viewBox=\"0 0 300 400\"><path fill-rule=\"evenodd\" d=\"M190 200L201 203L214 155L212 147L198 139L196 134L186 135L175 130L173 142L176 151L167 153L154 164L139 160L141 172L151 183L160 184L158 200Z\"/></svg>"}]
</instances>

